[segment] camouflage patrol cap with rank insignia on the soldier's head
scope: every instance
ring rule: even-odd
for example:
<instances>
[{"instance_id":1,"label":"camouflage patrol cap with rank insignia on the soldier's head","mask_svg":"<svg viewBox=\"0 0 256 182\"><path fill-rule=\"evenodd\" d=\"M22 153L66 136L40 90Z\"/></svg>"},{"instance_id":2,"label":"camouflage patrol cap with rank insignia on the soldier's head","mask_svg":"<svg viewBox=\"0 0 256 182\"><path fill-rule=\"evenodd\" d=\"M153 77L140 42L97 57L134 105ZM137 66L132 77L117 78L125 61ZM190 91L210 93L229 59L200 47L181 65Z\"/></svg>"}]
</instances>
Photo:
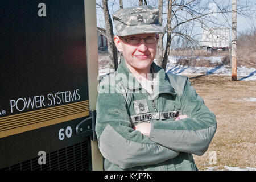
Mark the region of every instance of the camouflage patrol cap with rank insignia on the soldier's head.
<instances>
[{"instance_id":1,"label":"camouflage patrol cap with rank insignia on the soldier's head","mask_svg":"<svg viewBox=\"0 0 256 182\"><path fill-rule=\"evenodd\" d=\"M116 34L128 36L134 34L163 33L158 20L159 10L152 6L137 6L119 9L113 14Z\"/></svg>"}]
</instances>

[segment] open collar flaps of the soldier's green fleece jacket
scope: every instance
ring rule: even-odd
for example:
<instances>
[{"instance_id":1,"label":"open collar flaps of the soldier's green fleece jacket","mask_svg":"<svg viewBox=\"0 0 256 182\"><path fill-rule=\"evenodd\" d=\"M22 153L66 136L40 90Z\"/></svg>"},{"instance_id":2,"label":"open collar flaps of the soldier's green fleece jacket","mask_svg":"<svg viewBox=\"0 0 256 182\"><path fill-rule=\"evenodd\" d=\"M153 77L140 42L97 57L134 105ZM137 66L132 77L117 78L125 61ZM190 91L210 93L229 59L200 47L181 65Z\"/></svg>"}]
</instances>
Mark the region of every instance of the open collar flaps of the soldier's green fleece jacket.
<instances>
[{"instance_id":1,"label":"open collar flaps of the soldier's green fleece jacket","mask_svg":"<svg viewBox=\"0 0 256 182\"><path fill-rule=\"evenodd\" d=\"M154 76L158 77L156 81L156 84L158 85L154 85L153 94L150 97L152 99L155 99L160 93L169 93L173 96L176 96L177 93L168 81L168 76L166 75L164 69L156 65L154 62L151 64L151 68L154 71ZM141 84L139 84L138 80L130 72L129 68L127 68L124 59L121 60L121 63L119 64L119 67L117 69L117 73L124 74L119 79L117 79L117 81L122 81L122 85L125 86L127 89L135 91L141 88ZM126 77L127 80L123 80L123 77Z\"/></svg>"}]
</instances>

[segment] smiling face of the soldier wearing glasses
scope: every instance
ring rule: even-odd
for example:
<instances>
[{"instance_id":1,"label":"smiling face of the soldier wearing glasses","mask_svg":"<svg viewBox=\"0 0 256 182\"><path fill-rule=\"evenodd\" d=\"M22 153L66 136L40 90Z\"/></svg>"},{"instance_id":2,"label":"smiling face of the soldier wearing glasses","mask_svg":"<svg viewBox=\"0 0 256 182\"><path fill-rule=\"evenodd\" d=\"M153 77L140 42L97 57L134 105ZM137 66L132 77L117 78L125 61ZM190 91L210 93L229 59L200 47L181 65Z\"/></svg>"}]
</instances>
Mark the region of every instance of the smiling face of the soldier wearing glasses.
<instances>
[{"instance_id":1,"label":"smiling face of the soldier wearing glasses","mask_svg":"<svg viewBox=\"0 0 256 182\"><path fill-rule=\"evenodd\" d=\"M114 36L114 42L119 51L122 51L125 58L126 65L130 69L131 73L150 73L150 65L155 59L156 46L158 41L152 44L144 42L143 38L148 36L156 36L155 34L136 34L120 38ZM141 38L141 42L138 44L129 44L126 42L127 38L137 37Z\"/></svg>"}]
</instances>

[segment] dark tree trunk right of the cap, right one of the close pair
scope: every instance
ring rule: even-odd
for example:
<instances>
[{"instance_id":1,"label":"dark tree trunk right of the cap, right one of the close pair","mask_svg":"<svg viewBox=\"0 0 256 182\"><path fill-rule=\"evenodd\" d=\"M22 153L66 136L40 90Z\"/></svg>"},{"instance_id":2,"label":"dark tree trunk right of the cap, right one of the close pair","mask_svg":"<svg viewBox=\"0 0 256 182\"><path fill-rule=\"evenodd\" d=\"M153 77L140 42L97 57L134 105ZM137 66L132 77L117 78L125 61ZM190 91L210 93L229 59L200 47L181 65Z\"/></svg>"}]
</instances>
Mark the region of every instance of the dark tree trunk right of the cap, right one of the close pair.
<instances>
[{"instance_id":1,"label":"dark tree trunk right of the cap, right one of the close pair","mask_svg":"<svg viewBox=\"0 0 256 182\"><path fill-rule=\"evenodd\" d=\"M170 46L171 46L171 14L172 14L172 0L168 1L168 15L167 15L167 40L166 40L166 50L164 51L164 57L163 57L163 63L162 63L162 68L166 70L166 64L170 52Z\"/></svg>"}]
</instances>

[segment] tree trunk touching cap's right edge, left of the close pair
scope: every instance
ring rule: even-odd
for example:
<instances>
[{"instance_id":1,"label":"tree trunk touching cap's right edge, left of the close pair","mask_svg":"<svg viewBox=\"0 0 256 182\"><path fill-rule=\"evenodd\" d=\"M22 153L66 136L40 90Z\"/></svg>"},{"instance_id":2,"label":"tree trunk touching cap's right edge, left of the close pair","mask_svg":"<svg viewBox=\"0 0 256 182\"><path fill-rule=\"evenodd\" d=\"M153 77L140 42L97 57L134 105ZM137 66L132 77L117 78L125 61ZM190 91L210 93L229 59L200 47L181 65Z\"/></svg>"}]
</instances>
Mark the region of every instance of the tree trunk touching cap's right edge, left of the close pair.
<instances>
[{"instance_id":1,"label":"tree trunk touching cap's right edge, left of the close pair","mask_svg":"<svg viewBox=\"0 0 256 182\"><path fill-rule=\"evenodd\" d=\"M159 23L162 26L163 23L163 0L158 0L158 9L159 9ZM158 56L156 57L156 64L162 66L163 61L163 34L159 34L158 39Z\"/></svg>"}]
</instances>

